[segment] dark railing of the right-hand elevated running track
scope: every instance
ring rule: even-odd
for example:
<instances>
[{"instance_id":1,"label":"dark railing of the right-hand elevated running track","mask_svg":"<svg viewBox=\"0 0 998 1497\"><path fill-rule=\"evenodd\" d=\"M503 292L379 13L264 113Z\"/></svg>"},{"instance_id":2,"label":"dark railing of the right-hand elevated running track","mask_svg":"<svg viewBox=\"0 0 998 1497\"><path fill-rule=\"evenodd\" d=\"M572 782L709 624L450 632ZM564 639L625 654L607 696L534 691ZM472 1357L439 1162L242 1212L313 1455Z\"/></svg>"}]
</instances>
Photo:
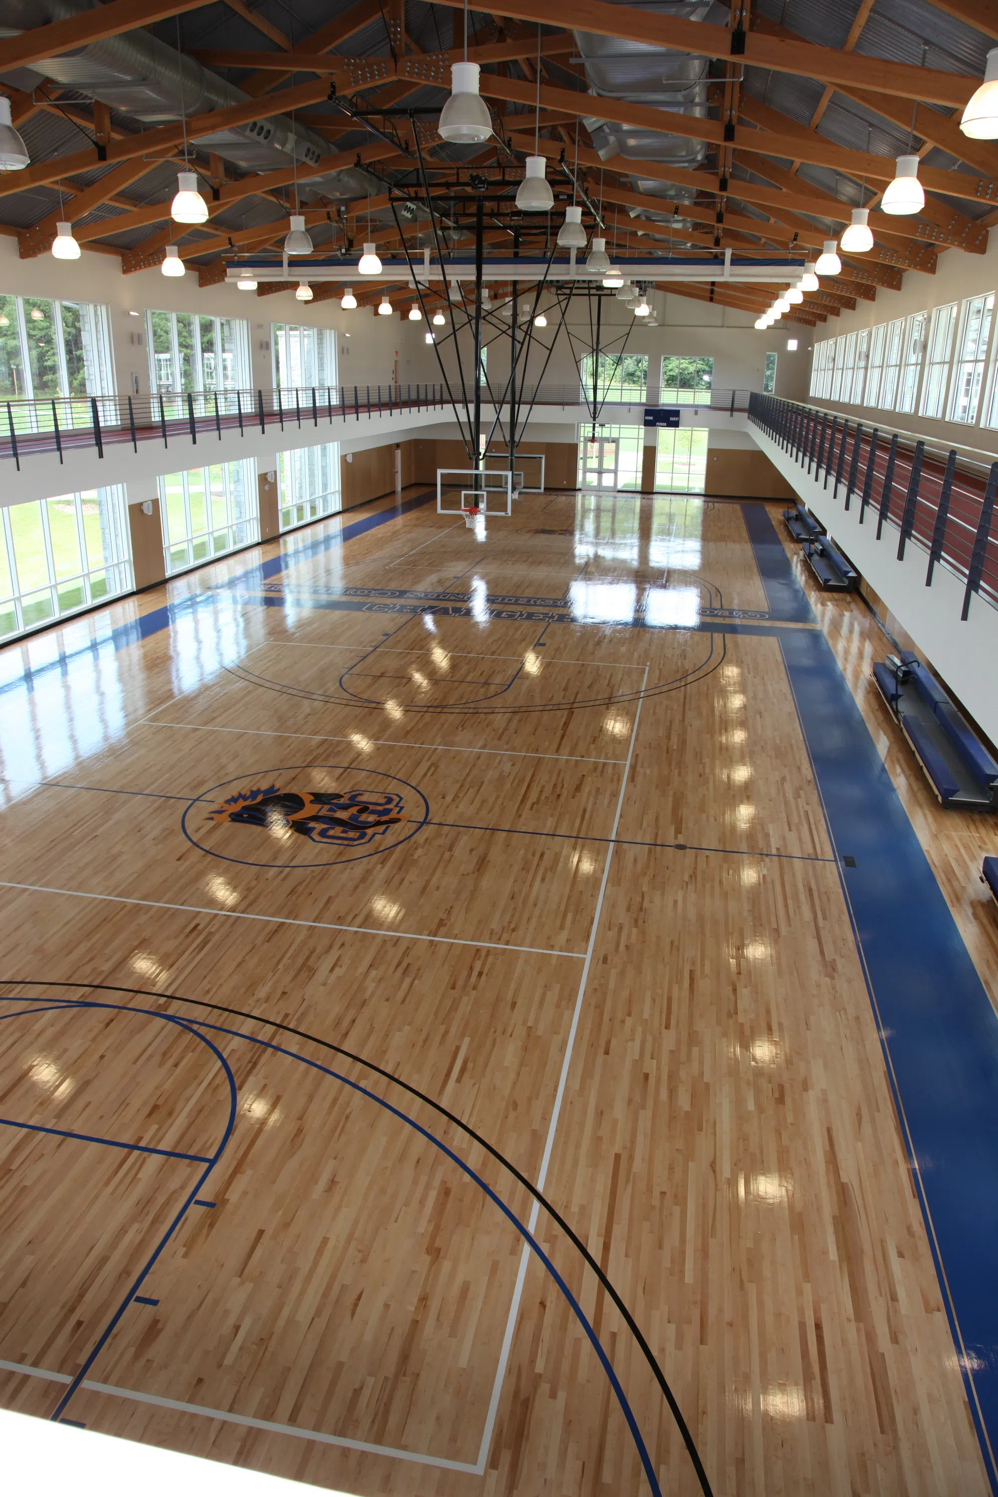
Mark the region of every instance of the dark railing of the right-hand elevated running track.
<instances>
[{"instance_id":1,"label":"dark railing of the right-hand elevated running track","mask_svg":"<svg viewBox=\"0 0 998 1497\"><path fill-rule=\"evenodd\" d=\"M789 452L832 499L859 510L875 539L892 537L898 558L908 543L928 555L926 587L937 566L964 584L964 611L979 593L998 608L998 463L959 457L898 431L869 427L814 406L754 394L748 419Z\"/></svg>"}]
</instances>

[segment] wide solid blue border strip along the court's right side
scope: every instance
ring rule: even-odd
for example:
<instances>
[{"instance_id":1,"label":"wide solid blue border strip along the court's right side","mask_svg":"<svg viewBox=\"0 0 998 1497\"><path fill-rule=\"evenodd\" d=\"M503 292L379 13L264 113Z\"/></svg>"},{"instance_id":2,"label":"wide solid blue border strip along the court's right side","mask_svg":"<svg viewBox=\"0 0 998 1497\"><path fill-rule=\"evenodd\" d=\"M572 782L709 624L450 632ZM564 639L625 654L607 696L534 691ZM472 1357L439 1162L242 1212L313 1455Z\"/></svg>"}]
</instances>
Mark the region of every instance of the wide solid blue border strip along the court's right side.
<instances>
[{"instance_id":1,"label":"wide solid blue border strip along the court's right side","mask_svg":"<svg viewBox=\"0 0 998 1497\"><path fill-rule=\"evenodd\" d=\"M771 603L800 615L803 588L769 515L742 513ZM839 862L842 897L998 1493L998 1016L824 633L783 629L778 641L832 846L856 859Z\"/></svg>"}]
</instances>

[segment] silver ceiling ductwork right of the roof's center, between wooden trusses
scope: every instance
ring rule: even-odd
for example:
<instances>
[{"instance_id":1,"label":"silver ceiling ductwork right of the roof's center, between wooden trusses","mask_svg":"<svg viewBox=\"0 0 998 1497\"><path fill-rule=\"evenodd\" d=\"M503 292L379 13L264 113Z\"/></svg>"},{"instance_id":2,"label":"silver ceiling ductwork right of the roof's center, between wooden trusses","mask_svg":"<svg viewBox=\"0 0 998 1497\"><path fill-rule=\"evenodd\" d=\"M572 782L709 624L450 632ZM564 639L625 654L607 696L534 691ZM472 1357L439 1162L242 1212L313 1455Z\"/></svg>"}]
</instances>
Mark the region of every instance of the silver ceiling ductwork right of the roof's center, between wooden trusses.
<instances>
[{"instance_id":1,"label":"silver ceiling ductwork right of the roof's center, between wooden trusses","mask_svg":"<svg viewBox=\"0 0 998 1497\"><path fill-rule=\"evenodd\" d=\"M624 3L624 0L619 0ZM634 3L634 0L628 0ZM682 21L703 21L708 25L727 25L730 12L718 0L649 0L639 9L655 15L676 16ZM573 31L579 48L579 61L585 66L590 93L604 99L625 99L631 103L654 105L672 114L685 114L697 120L708 111L708 58L693 57L664 46L646 46L642 42L624 42L612 36L596 36L591 31ZM594 109L599 108L594 102ZM679 166L693 171L706 156L705 141L691 141L685 135L669 135L660 130L634 129L615 124L593 114L584 121L597 153L609 156L631 156L637 160L661 162L664 166ZM676 202L693 202L691 187L672 186L639 174L631 177L634 192L655 198L670 198ZM636 210L631 210L634 216ZM667 216L652 214L655 220ZM675 226L679 226L676 220Z\"/></svg>"}]
</instances>

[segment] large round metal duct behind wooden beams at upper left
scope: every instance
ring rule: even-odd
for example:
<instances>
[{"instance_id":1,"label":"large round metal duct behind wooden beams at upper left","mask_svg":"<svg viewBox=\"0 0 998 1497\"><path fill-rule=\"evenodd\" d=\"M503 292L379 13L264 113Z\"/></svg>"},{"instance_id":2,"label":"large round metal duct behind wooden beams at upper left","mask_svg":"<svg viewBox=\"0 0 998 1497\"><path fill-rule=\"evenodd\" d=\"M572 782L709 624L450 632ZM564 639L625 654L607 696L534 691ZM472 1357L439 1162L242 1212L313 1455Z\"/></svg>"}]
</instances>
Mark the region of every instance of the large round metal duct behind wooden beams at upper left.
<instances>
[{"instance_id":1,"label":"large round metal duct behind wooden beams at upper left","mask_svg":"<svg viewBox=\"0 0 998 1497\"><path fill-rule=\"evenodd\" d=\"M94 9L91 0L0 0L0 34L15 36L90 9ZM142 124L166 124L180 120L183 114L190 118L206 109L224 109L250 99L241 88L142 30L63 52L30 72L90 94ZM263 106L263 100L260 105ZM320 135L292 123L286 115L269 115L218 130L217 135L200 136L198 148L215 151L247 172L274 171L286 166L290 159L302 166L314 166L329 154L329 145ZM328 178L314 177L308 187L314 190L319 184L329 196L361 196L367 192L367 178L356 171L335 172ZM305 196L302 192L302 198Z\"/></svg>"}]
</instances>

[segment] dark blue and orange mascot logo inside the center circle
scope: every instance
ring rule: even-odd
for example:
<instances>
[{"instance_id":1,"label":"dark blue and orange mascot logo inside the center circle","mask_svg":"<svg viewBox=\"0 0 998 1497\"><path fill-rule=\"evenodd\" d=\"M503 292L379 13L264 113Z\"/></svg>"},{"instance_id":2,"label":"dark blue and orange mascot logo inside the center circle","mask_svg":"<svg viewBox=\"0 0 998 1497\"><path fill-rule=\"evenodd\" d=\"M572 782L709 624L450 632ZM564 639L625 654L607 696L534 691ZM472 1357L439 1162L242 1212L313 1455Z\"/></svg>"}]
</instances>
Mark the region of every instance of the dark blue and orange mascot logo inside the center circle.
<instances>
[{"instance_id":1,"label":"dark blue and orange mascot logo inside the center circle","mask_svg":"<svg viewBox=\"0 0 998 1497\"><path fill-rule=\"evenodd\" d=\"M389 826L407 820L402 798L391 790L239 790L208 813L209 822L235 822L265 831L292 831L310 841L340 847L362 847Z\"/></svg>"}]
</instances>

